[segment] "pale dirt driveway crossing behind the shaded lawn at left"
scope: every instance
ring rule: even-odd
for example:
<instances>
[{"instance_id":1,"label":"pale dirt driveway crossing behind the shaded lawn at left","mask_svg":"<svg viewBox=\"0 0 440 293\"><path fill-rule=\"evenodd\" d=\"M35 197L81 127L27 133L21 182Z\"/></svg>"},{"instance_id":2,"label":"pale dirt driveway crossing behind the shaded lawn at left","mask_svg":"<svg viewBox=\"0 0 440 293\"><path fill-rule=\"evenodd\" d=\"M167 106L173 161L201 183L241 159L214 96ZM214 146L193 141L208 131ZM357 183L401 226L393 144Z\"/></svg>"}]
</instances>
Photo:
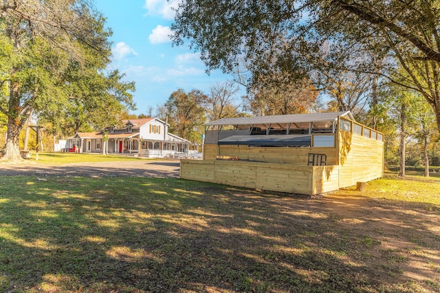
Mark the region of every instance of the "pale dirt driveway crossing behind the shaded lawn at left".
<instances>
[{"instance_id":1,"label":"pale dirt driveway crossing behind the shaded lawn at left","mask_svg":"<svg viewBox=\"0 0 440 293\"><path fill-rule=\"evenodd\" d=\"M0 176L179 177L178 160L72 163L65 165L0 164Z\"/></svg>"}]
</instances>

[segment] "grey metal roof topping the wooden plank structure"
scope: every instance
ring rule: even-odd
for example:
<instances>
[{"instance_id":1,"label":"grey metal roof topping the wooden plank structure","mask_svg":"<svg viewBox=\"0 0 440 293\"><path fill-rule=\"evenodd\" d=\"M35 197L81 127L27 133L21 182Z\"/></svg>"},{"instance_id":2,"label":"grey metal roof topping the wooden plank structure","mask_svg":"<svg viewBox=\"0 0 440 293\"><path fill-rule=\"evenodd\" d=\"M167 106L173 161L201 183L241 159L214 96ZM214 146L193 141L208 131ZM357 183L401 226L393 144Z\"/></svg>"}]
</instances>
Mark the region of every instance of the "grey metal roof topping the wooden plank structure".
<instances>
[{"instance_id":1,"label":"grey metal roof topping the wooden plank structure","mask_svg":"<svg viewBox=\"0 0 440 293\"><path fill-rule=\"evenodd\" d=\"M346 112L333 112L333 113L223 118L216 121L208 122L205 125L221 126L221 125L252 125L252 124L287 124L287 123L301 123L301 122L336 121L338 120L339 116L346 117L353 121L355 120L353 118L353 115L351 115L351 112L346 111Z\"/></svg>"}]
</instances>

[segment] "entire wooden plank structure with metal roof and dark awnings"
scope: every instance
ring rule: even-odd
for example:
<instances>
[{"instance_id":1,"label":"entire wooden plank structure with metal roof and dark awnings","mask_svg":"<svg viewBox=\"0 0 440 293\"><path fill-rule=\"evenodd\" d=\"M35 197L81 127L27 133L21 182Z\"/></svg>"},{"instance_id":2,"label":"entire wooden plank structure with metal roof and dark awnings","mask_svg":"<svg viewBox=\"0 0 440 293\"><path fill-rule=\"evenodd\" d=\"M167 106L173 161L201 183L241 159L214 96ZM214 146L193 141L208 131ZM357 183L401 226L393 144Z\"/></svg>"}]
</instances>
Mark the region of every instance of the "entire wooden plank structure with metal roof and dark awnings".
<instances>
[{"instance_id":1,"label":"entire wooden plank structure with metal roof and dark awnings","mask_svg":"<svg viewBox=\"0 0 440 293\"><path fill-rule=\"evenodd\" d=\"M203 160L181 160L181 178L315 195L384 174L384 135L350 112L226 118L205 135Z\"/></svg>"}]
</instances>

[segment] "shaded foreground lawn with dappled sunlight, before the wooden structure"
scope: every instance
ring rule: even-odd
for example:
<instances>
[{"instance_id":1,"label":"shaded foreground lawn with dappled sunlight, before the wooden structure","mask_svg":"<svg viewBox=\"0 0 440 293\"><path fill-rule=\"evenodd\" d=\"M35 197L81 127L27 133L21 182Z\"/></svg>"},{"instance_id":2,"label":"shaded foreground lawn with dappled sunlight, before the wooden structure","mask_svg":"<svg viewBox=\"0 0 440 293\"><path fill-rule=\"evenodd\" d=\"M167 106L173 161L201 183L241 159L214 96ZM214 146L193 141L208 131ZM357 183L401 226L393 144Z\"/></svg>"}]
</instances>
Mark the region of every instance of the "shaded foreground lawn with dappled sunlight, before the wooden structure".
<instances>
[{"instance_id":1,"label":"shaded foreground lawn with dappled sunlight, before the wooden structure","mask_svg":"<svg viewBox=\"0 0 440 293\"><path fill-rule=\"evenodd\" d=\"M169 178L0 184L2 292L439 289L436 206Z\"/></svg>"}]
</instances>

